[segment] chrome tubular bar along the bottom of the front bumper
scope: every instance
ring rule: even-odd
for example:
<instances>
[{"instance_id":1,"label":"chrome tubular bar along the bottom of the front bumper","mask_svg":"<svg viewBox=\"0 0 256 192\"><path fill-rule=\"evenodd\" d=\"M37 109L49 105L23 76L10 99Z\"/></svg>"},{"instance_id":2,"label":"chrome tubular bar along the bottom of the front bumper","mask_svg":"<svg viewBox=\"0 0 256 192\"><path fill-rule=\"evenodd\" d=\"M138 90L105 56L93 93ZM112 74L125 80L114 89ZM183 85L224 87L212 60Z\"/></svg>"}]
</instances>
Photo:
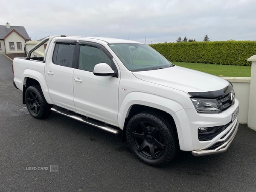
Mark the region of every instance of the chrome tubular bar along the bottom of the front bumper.
<instances>
[{"instance_id":1,"label":"chrome tubular bar along the bottom of the front bumper","mask_svg":"<svg viewBox=\"0 0 256 192\"><path fill-rule=\"evenodd\" d=\"M221 145L217 145L216 148L210 147L210 148L204 149L204 150L192 151L192 155L199 157L199 156L204 156L204 155L223 153L223 152L227 151L227 149L229 148L230 144L232 143L233 139L236 136L238 126L239 126L239 123L237 122L237 119L236 119L236 123L234 123L233 128L231 128L231 130L230 130L232 132L232 134L230 134L230 136L226 139L226 141L221 143Z\"/></svg>"}]
</instances>

